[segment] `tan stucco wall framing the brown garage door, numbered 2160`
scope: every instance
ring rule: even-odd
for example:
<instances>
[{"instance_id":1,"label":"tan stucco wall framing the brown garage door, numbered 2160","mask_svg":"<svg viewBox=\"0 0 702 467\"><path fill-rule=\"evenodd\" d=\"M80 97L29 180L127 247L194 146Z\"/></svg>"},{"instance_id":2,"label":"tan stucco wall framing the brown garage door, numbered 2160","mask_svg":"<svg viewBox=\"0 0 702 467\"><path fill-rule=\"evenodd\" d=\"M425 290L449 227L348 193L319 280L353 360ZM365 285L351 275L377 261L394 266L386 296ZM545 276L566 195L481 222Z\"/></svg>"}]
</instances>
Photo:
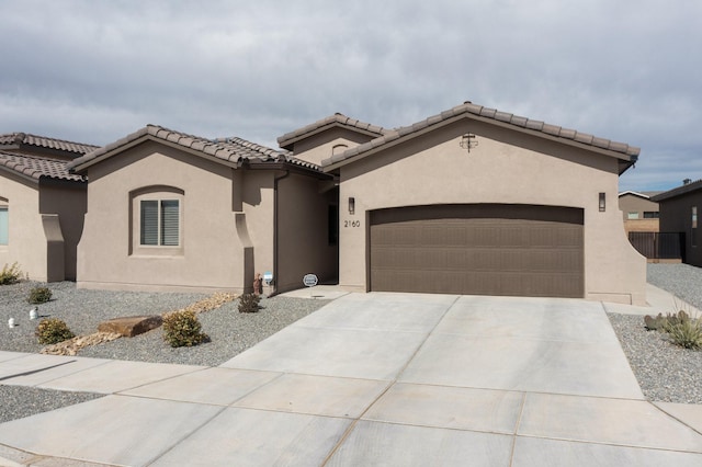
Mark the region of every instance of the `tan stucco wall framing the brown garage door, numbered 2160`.
<instances>
[{"instance_id":1,"label":"tan stucco wall framing the brown garage door, numbered 2160","mask_svg":"<svg viewBox=\"0 0 702 467\"><path fill-rule=\"evenodd\" d=\"M458 145L467 132L478 141L471 152ZM614 158L463 121L344 166L340 175L339 280L344 287L366 289L367 210L539 204L584 209L586 298L645 303L645 259L624 234ZM600 192L607 195L604 213L598 209ZM350 196L355 198L354 215L347 209Z\"/></svg>"}]
</instances>

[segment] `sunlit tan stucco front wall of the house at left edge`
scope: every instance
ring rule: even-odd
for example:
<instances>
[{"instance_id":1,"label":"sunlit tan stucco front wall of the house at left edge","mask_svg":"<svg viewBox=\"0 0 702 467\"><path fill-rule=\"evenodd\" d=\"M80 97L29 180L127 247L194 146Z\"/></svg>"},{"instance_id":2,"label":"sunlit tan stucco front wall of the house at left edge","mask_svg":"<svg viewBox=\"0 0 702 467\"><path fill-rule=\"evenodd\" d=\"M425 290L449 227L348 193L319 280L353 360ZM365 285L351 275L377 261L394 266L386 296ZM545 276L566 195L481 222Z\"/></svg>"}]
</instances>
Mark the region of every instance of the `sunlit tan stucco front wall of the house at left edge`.
<instances>
[{"instance_id":1,"label":"sunlit tan stucco front wall of the house at left edge","mask_svg":"<svg viewBox=\"0 0 702 467\"><path fill-rule=\"evenodd\" d=\"M47 241L39 215L38 184L3 173L0 197L7 200L9 213L9 238L7 246L0 246L0 267L18 262L31 280L47 281Z\"/></svg>"}]
</instances>

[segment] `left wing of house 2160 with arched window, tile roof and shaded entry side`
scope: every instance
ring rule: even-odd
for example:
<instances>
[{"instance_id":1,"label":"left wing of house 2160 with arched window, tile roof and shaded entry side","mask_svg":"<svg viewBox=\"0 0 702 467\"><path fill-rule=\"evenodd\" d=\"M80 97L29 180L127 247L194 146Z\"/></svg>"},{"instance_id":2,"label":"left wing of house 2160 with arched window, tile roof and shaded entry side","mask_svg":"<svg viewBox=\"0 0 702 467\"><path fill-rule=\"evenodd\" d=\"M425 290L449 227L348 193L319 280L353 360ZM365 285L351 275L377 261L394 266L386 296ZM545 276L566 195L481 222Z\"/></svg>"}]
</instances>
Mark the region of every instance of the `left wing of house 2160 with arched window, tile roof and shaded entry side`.
<instances>
[{"instance_id":1,"label":"left wing of house 2160 with arched window, tile roof and shaded entry side","mask_svg":"<svg viewBox=\"0 0 702 467\"><path fill-rule=\"evenodd\" d=\"M318 166L148 125L70 162L88 178L78 286L275 292L336 281L338 195ZM270 292L270 289L267 289Z\"/></svg>"}]
</instances>

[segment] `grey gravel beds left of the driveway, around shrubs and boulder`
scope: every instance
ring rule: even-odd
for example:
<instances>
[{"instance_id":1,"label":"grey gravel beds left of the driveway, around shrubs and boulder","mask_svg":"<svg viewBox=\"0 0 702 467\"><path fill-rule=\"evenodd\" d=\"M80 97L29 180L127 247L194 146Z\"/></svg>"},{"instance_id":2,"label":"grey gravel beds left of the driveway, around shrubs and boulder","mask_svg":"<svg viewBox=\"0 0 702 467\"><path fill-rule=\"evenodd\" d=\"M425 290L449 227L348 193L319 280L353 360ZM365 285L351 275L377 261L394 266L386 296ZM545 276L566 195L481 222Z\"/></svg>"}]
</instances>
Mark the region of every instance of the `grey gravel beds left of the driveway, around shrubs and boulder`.
<instances>
[{"instance_id":1,"label":"grey gravel beds left of the driveway, around shrubs and boulder","mask_svg":"<svg viewBox=\"0 0 702 467\"><path fill-rule=\"evenodd\" d=\"M32 282L0 286L0 351L38 353L34 330L37 321L30 320L33 305L26 303L30 289L46 286ZM48 284L53 293L49 303L38 305L43 318L64 320L77 335L91 334L104 320L135 315L160 315L204 299L203 294L158 294L144 292L106 292L77 289L70 282ZM170 348L162 339L161 328L137 335L89 346L79 356L131 360L154 363L217 366L286 326L309 315L328 300L274 297L261 299L257 314L240 314L238 301L200 314L211 342L193 348ZM8 320L18 326L10 329ZM47 410L102 397L84 392L5 386L0 381L0 423Z\"/></svg>"}]
</instances>

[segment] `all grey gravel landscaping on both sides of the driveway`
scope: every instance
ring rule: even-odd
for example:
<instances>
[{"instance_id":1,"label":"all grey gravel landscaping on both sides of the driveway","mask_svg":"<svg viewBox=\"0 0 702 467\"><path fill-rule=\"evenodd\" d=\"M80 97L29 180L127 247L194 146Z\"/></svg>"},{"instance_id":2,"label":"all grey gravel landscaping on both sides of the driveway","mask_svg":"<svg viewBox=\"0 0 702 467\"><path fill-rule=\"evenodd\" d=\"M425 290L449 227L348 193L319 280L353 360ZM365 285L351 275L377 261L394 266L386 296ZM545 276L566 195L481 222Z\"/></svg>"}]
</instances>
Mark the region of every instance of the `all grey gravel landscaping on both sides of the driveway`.
<instances>
[{"instance_id":1,"label":"all grey gravel landscaping on both sides of the driveway","mask_svg":"<svg viewBox=\"0 0 702 467\"><path fill-rule=\"evenodd\" d=\"M686 264L649 264L648 282L702 309L702 269ZM36 284L0 286L0 350L37 353L36 321L30 320L29 292ZM73 283L48 284L49 303L39 305L42 317L59 318L76 334L95 332L104 320L135 315L160 315L206 298L202 294L157 294L77 289ZM321 308L327 300L291 297L264 298L258 314L239 314L237 301L199 315L212 342L171 349L161 329L132 339L117 339L80 351L80 356L155 363L217 366L292 322ZM673 310L670 310L673 311ZM677 348L663 334L646 331L643 317L608 314L624 353L647 399L702 403L702 351ZM8 327L13 317L19 326ZM4 386L0 381L0 423L82 402L101 395L61 392ZM4 403L8 401L8 403Z\"/></svg>"}]
</instances>

